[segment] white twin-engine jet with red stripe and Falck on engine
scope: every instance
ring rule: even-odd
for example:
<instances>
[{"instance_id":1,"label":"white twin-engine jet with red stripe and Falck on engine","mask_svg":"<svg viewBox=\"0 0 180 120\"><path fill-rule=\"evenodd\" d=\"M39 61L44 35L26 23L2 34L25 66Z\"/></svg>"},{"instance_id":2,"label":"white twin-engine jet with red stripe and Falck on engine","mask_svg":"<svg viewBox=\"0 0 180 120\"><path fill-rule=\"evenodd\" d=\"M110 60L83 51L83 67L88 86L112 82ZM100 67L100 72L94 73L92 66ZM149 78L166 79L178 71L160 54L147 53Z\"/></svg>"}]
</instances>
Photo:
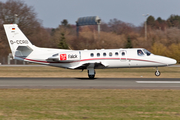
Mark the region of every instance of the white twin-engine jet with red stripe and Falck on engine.
<instances>
[{"instance_id":1,"label":"white twin-engine jet with red stripe and Falck on engine","mask_svg":"<svg viewBox=\"0 0 180 120\"><path fill-rule=\"evenodd\" d=\"M158 67L176 64L175 59L154 55L143 48L64 50L40 48L31 44L17 24L4 24L13 58L67 69L87 69L89 78L95 77L95 69Z\"/></svg>"}]
</instances>

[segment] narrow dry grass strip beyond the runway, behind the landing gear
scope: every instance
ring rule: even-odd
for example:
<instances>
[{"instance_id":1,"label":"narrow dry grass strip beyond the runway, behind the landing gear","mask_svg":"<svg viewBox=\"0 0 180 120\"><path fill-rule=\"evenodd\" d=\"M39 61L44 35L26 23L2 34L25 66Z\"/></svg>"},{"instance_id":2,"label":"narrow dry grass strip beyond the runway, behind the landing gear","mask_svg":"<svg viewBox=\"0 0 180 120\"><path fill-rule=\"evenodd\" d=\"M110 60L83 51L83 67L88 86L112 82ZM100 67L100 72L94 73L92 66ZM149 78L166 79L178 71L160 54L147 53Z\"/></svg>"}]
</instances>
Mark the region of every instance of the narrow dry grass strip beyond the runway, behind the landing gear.
<instances>
[{"instance_id":1,"label":"narrow dry grass strip beyond the runway, behind the landing gear","mask_svg":"<svg viewBox=\"0 0 180 120\"><path fill-rule=\"evenodd\" d=\"M155 68L96 69L97 78L157 78ZM180 67L159 67L158 78L180 78ZM57 67L0 67L0 77L86 77L87 70L69 70Z\"/></svg>"}]
</instances>

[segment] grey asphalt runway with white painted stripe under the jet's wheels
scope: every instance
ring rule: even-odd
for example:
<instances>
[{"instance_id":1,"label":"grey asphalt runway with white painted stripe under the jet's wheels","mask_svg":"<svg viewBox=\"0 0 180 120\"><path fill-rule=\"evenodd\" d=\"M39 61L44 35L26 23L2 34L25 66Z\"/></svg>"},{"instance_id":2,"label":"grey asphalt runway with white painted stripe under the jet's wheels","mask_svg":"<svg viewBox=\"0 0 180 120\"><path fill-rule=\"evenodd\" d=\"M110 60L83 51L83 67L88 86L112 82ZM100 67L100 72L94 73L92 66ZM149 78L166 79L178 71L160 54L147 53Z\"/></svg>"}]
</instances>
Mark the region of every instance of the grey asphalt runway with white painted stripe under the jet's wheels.
<instances>
[{"instance_id":1,"label":"grey asphalt runway with white painted stripe under the jet's wheels","mask_svg":"<svg viewBox=\"0 0 180 120\"><path fill-rule=\"evenodd\" d=\"M180 78L0 78L0 88L180 89Z\"/></svg>"}]
</instances>

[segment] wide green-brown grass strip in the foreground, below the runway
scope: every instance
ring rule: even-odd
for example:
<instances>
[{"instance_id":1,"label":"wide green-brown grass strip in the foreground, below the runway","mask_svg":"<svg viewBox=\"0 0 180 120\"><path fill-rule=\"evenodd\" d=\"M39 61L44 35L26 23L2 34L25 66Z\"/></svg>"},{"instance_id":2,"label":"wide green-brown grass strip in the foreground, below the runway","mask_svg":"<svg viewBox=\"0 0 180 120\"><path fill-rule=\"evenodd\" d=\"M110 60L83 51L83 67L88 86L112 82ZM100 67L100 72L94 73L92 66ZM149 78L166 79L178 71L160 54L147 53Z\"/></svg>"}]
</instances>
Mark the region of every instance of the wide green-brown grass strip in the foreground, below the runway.
<instances>
[{"instance_id":1,"label":"wide green-brown grass strip in the foreground, below the runway","mask_svg":"<svg viewBox=\"0 0 180 120\"><path fill-rule=\"evenodd\" d=\"M180 90L1 89L2 120L177 120Z\"/></svg>"}]
</instances>

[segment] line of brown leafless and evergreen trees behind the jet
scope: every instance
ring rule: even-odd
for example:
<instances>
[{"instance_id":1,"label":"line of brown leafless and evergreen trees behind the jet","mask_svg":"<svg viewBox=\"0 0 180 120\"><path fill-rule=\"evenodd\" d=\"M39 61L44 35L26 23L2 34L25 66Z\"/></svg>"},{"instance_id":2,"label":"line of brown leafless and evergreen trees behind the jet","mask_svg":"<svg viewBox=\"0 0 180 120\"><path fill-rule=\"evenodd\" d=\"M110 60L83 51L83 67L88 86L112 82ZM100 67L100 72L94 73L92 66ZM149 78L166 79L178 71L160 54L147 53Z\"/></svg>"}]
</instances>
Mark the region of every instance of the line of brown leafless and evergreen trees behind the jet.
<instances>
[{"instance_id":1,"label":"line of brown leafless and evergreen trees behind the jet","mask_svg":"<svg viewBox=\"0 0 180 120\"><path fill-rule=\"evenodd\" d=\"M144 23L140 26L123 22L116 18L101 23L101 32L97 26L82 26L77 37L76 25L60 20L57 28L44 28L42 21L32 6L19 0L0 2L0 57L7 56L10 48L3 24L15 23L30 41L39 47L59 49L115 49L145 48L154 54L175 58L180 63L180 16L170 15L167 20L155 19L150 15L147 20L147 40Z\"/></svg>"}]
</instances>

